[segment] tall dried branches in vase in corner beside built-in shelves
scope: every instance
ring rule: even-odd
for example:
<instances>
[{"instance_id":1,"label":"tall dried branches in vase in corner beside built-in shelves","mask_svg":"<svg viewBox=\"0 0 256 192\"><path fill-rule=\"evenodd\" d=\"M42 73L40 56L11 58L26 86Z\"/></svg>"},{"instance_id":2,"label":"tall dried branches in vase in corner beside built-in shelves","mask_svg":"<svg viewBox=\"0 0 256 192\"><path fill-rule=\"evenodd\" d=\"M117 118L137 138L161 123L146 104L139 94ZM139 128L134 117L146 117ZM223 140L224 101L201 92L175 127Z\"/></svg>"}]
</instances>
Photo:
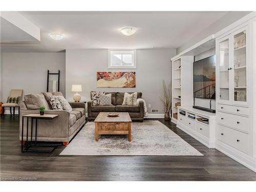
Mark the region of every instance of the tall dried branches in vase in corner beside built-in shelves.
<instances>
[{"instance_id":1,"label":"tall dried branches in vase in corner beside built-in shelves","mask_svg":"<svg viewBox=\"0 0 256 192\"><path fill-rule=\"evenodd\" d=\"M170 109L172 109L172 82L166 85L163 80L163 96L160 100L164 104L164 120L170 120Z\"/></svg>"}]
</instances>

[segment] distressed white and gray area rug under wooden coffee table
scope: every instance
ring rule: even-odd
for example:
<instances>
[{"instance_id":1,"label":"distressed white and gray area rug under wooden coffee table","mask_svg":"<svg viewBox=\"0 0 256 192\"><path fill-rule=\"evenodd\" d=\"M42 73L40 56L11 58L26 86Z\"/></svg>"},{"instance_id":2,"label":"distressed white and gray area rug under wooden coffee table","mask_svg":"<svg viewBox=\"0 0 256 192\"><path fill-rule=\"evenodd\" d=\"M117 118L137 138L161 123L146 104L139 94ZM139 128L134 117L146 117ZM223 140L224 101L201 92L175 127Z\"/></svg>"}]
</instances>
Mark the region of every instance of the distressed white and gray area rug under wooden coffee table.
<instances>
[{"instance_id":1,"label":"distressed white and gray area rug under wooden coffee table","mask_svg":"<svg viewBox=\"0 0 256 192\"><path fill-rule=\"evenodd\" d=\"M132 141L125 135L94 139L94 122L88 122L60 155L203 156L160 121L132 123Z\"/></svg>"}]
</instances>

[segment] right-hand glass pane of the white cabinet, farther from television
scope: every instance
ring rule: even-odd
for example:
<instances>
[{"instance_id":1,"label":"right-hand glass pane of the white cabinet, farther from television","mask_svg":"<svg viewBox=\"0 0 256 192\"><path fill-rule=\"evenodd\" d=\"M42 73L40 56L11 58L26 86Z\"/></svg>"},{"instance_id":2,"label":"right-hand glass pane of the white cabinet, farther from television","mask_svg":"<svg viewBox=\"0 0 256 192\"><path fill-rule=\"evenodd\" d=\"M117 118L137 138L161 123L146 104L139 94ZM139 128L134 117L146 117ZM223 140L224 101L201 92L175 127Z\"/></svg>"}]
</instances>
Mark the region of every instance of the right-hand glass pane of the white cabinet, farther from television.
<instances>
[{"instance_id":1,"label":"right-hand glass pane of the white cabinet, farther from television","mask_svg":"<svg viewBox=\"0 0 256 192\"><path fill-rule=\"evenodd\" d=\"M233 99L246 102L246 31L233 35Z\"/></svg>"}]
</instances>

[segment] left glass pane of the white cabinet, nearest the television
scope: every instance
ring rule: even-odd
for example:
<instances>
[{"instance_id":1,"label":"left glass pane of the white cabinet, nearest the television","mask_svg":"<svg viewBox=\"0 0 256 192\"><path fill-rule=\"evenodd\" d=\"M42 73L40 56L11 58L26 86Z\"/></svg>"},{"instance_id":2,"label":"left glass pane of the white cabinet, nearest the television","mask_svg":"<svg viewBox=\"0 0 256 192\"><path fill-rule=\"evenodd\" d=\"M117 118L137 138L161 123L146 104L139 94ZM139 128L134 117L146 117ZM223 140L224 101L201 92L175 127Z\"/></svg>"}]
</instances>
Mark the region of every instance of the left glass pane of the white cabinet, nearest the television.
<instances>
[{"instance_id":1,"label":"left glass pane of the white cabinet, nearest the television","mask_svg":"<svg viewBox=\"0 0 256 192\"><path fill-rule=\"evenodd\" d=\"M219 44L220 100L229 100L229 39Z\"/></svg>"}]
</instances>

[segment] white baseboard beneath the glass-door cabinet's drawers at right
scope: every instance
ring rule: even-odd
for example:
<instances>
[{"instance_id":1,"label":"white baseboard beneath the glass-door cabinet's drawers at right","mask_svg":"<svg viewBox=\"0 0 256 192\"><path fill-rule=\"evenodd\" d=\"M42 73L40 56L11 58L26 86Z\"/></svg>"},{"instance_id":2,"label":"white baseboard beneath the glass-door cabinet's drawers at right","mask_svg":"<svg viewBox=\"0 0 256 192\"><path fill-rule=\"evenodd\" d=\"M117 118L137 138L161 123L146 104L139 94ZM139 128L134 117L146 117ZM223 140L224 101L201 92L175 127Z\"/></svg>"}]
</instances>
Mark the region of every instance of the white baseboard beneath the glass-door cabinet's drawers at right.
<instances>
[{"instance_id":1,"label":"white baseboard beneath the glass-door cabinet's drawers at right","mask_svg":"<svg viewBox=\"0 0 256 192\"><path fill-rule=\"evenodd\" d=\"M253 170L253 172L256 172L256 159L236 150L236 148L233 148L219 140L216 141L215 148L218 151L227 155L228 157L238 161L239 163Z\"/></svg>"}]
</instances>

